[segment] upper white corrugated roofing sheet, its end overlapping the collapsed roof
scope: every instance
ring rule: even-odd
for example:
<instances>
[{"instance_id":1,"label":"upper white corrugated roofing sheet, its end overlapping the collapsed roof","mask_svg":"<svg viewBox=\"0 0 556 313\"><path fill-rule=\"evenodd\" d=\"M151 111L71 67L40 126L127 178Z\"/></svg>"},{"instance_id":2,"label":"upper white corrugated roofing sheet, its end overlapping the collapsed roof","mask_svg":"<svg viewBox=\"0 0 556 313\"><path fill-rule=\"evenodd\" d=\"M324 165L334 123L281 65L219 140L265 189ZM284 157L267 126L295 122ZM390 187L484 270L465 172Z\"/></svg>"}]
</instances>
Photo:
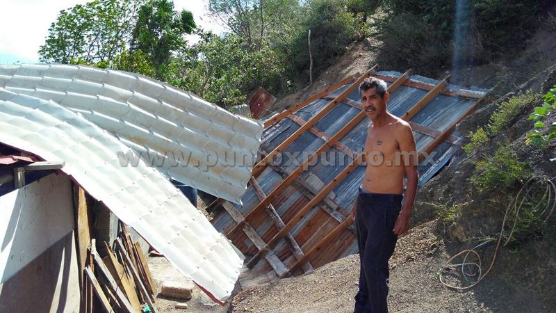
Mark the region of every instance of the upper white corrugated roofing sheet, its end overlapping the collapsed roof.
<instances>
[{"instance_id":1,"label":"upper white corrugated roofing sheet, its end overlapping the collapsed roof","mask_svg":"<svg viewBox=\"0 0 556 313\"><path fill-rule=\"evenodd\" d=\"M0 87L81 113L183 184L237 203L245 193L262 122L139 74L82 65L0 65Z\"/></svg>"}]
</instances>

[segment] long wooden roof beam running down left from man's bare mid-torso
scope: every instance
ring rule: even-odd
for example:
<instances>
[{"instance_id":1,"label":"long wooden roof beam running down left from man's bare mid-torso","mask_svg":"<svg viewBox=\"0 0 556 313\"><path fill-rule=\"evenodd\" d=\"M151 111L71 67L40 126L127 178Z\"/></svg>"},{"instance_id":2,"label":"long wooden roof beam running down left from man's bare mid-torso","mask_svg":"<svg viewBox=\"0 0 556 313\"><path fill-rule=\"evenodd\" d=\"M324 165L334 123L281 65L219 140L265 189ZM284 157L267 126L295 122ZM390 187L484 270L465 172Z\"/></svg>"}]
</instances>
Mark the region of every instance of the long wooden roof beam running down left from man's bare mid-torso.
<instances>
[{"instance_id":1,"label":"long wooden roof beam running down left from man's bare mid-torso","mask_svg":"<svg viewBox=\"0 0 556 313\"><path fill-rule=\"evenodd\" d=\"M350 175L350 173L353 172L353 170L355 170L355 168L357 168L357 166L359 166L359 164L362 161L363 161L363 154L359 154L357 156L357 159L354 159L350 163L350 165L346 166L340 173L338 173L338 175L336 175L336 177L334 177L334 179L332 179L332 182L330 182L329 184L324 186L322 188L322 190L318 194L315 195L315 198L311 199L311 201L309 201L309 203L305 204L305 206L302 207L302 209L300 209L300 211L298 211L297 214L295 214L295 216L293 216L293 218L291 218L291 220L288 222L288 224L286 224L286 226L284 228L279 230L279 232L277 234L275 234L275 236L273 236L272 239L270 239L270 241L268 241L265 248L259 250L259 252L257 252L256 255L254 255L250 259L250 261L247 263L247 266L249 266L249 267L254 266L254 264L256 264L256 262L259 261L260 257L264 256L265 253L268 250L274 248L276 246L276 244L279 242L279 240L282 239L286 235L287 232L289 232L295 225L297 225L297 223L299 223L300 220L302 220L302 218L307 213L309 213L309 211L311 211L311 209L313 209L313 207L318 202L320 202L320 200L325 198L327 193L332 191L332 189L336 188L336 186L338 186L338 184L343 182L345 177L347 177L347 175Z\"/></svg>"}]
</instances>

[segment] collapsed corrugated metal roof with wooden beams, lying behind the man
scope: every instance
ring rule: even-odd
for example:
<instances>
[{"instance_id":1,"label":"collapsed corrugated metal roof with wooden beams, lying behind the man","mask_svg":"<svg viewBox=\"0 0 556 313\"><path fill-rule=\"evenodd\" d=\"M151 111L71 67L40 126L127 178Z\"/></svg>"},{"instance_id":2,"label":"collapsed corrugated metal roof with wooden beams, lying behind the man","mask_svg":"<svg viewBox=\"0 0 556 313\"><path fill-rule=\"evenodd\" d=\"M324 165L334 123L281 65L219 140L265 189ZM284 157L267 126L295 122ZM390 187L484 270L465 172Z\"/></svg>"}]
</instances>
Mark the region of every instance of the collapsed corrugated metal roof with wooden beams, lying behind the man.
<instances>
[{"instance_id":1,"label":"collapsed corrugated metal roof with wooden beams, lying behind the man","mask_svg":"<svg viewBox=\"0 0 556 313\"><path fill-rule=\"evenodd\" d=\"M447 79L373 70L265 121L265 158L253 169L243 205L224 202L212 222L250 257L252 269L240 277L244 287L357 252L349 214L365 172L358 160L370 125L357 90L363 79L384 79L389 111L409 121L420 153L419 186L457 152L461 138L452 131L486 94Z\"/></svg>"}]
</instances>

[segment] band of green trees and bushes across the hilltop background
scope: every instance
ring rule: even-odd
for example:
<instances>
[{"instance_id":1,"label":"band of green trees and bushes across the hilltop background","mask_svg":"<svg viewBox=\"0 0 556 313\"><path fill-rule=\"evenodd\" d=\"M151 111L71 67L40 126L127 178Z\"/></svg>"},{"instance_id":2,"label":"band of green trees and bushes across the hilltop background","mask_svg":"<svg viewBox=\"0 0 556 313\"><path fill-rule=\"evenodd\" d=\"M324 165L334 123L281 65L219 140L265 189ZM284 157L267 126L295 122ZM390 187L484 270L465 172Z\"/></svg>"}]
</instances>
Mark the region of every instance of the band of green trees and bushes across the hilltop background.
<instances>
[{"instance_id":1,"label":"band of green trees and bushes across the hilltop background","mask_svg":"<svg viewBox=\"0 0 556 313\"><path fill-rule=\"evenodd\" d=\"M174 11L172 0L94 0L61 11L39 54L45 63L138 72L232 106L259 86L275 95L306 87L368 36L382 42L384 69L436 76L450 66L454 33L468 34L457 45L467 47L464 60L491 61L522 47L548 1L466 3L457 10L449 0L209 0L210 15L229 29L214 35L197 29L187 10ZM188 45L183 35L191 33L202 40Z\"/></svg>"}]
</instances>

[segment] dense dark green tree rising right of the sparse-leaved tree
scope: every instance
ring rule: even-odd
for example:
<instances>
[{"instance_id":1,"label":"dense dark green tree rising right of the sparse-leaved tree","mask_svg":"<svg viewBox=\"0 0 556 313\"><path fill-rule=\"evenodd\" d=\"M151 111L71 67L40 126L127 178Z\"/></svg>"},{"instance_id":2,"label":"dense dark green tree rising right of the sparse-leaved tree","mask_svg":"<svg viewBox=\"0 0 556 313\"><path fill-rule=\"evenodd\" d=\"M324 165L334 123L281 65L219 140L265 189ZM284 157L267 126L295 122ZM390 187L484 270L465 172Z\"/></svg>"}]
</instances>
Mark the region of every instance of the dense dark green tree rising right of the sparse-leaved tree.
<instances>
[{"instance_id":1,"label":"dense dark green tree rising right of the sparse-leaved tree","mask_svg":"<svg viewBox=\"0 0 556 313\"><path fill-rule=\"evenodd\" d=\"M163 79L162 67L170 61L172 52L185 47L183 35L192 33L196 27L193 14L187 10L174 11L171 0L151 0L139 9L131 51L145 52L156 79Z\"/></svg>"}]
</instances>

